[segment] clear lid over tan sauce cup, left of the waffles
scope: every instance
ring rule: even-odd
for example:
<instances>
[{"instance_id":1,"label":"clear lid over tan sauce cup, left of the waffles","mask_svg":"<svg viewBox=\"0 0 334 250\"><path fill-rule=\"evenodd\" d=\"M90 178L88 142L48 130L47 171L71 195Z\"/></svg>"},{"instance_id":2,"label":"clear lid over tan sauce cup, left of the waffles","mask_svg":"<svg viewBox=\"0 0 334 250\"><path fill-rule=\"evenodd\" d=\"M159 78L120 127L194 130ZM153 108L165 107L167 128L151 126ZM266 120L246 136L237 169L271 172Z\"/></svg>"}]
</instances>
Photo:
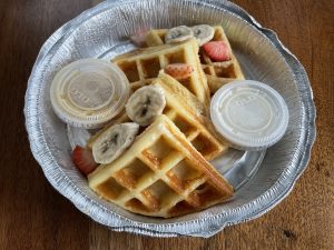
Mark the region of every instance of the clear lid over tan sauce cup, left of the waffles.
<instances>
[{"instance_id":1,"label":"clear lid over tan sauce cup, left of the waffles","mask_svg":"<svg viewBox=\"0 0 334 250\"><path fill-rule=\"evenodd\" d=\"M50 97L57 116L70 126L99 128L117 116L129 96L129 81L111 62L82 59L55 77Z\"/></svg>"}]
</instances>

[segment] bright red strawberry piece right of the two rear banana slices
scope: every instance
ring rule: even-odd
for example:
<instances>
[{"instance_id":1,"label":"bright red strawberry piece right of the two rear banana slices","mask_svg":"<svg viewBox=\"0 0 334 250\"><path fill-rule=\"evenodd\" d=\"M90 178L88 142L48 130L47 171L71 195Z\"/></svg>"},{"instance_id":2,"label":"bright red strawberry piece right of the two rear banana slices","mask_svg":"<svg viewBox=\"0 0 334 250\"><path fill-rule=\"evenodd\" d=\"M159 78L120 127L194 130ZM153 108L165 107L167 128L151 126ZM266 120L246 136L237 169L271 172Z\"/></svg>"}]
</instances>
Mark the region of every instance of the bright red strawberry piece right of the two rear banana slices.
<instances>
[{"instance_id":1,"label":"bright red strawberry piece right of the two rear banana slices","mask_svg":"<svg viewBox=\"0 0 334 250\"><path fill-rule=\"evenodd\" d=\"M209 41L203 46L204 51L213 61L229 61L230 51L224 41Z\"/></svg>"}]
</instances>

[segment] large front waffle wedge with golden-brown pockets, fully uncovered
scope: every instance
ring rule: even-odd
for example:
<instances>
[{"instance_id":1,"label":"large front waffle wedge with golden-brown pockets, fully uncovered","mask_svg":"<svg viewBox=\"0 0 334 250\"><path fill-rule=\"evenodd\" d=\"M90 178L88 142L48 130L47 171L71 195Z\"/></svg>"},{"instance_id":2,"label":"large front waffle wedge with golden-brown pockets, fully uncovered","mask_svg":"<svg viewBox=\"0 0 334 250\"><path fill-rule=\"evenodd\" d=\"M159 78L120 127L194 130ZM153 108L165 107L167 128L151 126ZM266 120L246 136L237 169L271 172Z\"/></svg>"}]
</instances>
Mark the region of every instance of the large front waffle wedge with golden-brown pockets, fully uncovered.
<instances>
[{"instance_id":1,"label":"large front waffle wedge with golden-brown pockets, fully uncovered","mask_svg":"<svg viewBox=\"0 0 334 250\"><path fill-rule=\"evenodd\" d=\"M233 196L232 186L164 114L88 181L104 199L150 217L199 211Z\"/></svg>"}]
</instances>

